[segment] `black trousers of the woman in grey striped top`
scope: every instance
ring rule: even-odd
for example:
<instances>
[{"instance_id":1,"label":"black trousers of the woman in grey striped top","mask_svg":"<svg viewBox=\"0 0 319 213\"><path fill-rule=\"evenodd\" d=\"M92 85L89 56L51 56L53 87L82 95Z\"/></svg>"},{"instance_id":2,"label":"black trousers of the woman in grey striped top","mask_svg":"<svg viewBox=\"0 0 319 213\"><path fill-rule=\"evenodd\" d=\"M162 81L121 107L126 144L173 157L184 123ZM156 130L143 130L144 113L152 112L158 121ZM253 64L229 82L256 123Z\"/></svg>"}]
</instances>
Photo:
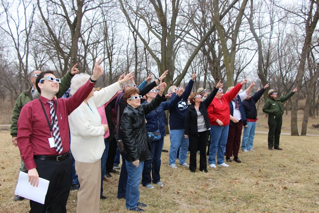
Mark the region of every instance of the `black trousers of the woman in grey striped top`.
<instances>
[{"instance_id":1,"label":"black trousers of the woman in grey striped top","mask_svg":"<svg viewBox=\"0 0 319 213\"><path fill-rule=\"evenodd\" d=\"M199 170L207 169L206 145L210 131L198 132L197 135L189 134L189 170L196 170L196 152L199 150Z\"/></svg>"}]
</instances>

